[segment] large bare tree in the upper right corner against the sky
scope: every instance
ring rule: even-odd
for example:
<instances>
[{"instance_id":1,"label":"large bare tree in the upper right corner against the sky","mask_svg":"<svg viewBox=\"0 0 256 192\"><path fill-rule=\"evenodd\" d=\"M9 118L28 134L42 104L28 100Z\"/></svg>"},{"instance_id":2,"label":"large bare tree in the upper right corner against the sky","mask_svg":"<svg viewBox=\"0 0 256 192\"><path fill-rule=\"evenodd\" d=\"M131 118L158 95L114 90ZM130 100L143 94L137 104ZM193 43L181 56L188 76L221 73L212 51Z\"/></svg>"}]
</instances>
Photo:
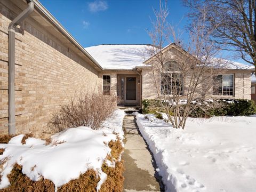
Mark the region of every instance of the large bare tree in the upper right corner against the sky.
<instances>
[{"instance_id":1,"label":"large bare tree in the upper right corner against the sky","mask_svg":"<svg viewBox=\"0 0 256 192\"><path fill-rule=\"evenodd\" d=\"M205 27L215 27L211 41L223 50L239 56L256 69L256 1L255 0L185 0L193 21L202 17L207 7Z\"/></svg>"}]
</instances>

